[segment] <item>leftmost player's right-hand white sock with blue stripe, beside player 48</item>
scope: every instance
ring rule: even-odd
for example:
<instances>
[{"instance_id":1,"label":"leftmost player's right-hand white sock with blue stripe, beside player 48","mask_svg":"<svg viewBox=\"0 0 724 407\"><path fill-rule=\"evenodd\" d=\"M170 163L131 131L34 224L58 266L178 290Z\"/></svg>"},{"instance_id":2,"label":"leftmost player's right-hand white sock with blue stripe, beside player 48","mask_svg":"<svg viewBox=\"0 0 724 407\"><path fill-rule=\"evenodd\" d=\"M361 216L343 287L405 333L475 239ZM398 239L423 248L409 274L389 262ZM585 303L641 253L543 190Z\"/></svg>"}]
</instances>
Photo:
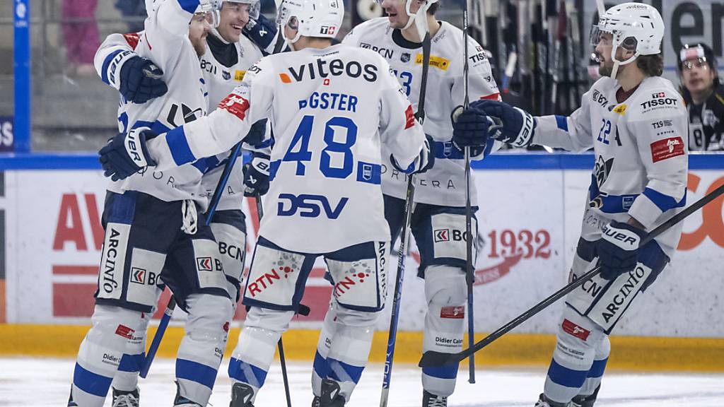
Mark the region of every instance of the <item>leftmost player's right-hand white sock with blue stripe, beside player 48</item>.
<instances>
[{"instance_id":1,"label":"leftmost player's right-hand white sock with blue stripe, beside player 48","mask_svg":"<svg viewBox=\"0 0 724 407\"><path fill-rule=\"evenodd\" d=\"M224 356L232 303L218 295L193 294L186 299L186 309L186 335L176 359L179 394L206 406Z\"/></svg>"}]
</instances>

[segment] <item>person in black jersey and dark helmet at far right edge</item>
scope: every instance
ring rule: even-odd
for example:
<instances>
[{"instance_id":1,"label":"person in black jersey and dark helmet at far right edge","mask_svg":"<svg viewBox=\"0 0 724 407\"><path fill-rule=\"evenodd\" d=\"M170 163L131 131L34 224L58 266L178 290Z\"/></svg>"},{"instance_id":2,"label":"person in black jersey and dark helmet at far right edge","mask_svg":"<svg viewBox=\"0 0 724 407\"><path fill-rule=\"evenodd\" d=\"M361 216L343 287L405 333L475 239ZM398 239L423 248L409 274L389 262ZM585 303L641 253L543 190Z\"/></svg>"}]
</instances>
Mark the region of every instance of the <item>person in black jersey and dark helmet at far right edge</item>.
<instances>
[{"instance_id":1,"label":"person in black jersey and dark helmet at far right edge","mask_svg":"<svg viewBox=\"0 0 724 407\"><path fill-rule=\"evenodd\" d=\"M689 150L724 150L724 86L714 51L704 43L679 52L681 94L689 111Z\"/></svg>"}]
</instances>

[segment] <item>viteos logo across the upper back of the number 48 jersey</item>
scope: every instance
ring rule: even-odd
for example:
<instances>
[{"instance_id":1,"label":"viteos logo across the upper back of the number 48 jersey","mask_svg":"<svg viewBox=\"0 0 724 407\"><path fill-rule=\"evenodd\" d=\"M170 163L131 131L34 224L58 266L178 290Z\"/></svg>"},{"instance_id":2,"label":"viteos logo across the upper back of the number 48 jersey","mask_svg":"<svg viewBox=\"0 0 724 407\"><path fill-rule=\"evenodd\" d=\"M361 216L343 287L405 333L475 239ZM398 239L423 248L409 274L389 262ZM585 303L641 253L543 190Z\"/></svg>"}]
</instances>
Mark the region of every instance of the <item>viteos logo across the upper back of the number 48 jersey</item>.
<instances>
[{"instance_id":1,"label":"viteos logo across the upper back of the number 48 jersey","mask_svg":"<svg viewBox=\"0 0 724 407\"><path fill-rule=\"evenodd\" d=\"M357 61L343 61L342 59L317 59L316 62L300 65L299 67L287 68L286 72L279 74L282 83L302 82L303 80L315 80L327 78L328 76L362 77L367 82L376 82L377 67L373 64L364 64ZM251 70L250 70L251 72Z\"/></svg>"}]
</instances>

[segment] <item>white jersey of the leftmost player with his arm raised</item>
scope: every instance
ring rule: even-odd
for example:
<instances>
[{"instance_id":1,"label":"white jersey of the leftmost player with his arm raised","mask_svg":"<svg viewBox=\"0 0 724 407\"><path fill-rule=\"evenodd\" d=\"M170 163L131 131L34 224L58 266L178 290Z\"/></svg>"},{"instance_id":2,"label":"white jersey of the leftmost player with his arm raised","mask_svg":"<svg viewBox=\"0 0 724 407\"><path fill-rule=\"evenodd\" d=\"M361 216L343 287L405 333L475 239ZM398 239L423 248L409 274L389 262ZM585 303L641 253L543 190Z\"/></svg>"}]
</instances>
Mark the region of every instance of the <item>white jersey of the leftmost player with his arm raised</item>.
<instances>
[{"instance_id":1,"label":"white jersey of the leftmost player with his arm raised","mask_svg":"<svg viewBox=\"0 0 724 407\"><path fill-rule=\"evenodd\" d=\"M118 126L121 133L136 127L151 127L164 133L174 127L206 115L208 93L201 75L198 55L188 39L188 25L193 16L190 5L178 0L158 3L156 12L146 19L145 30L138 34L111 34L96 52L95 64L104 82L119 88L120 67L135 53L151 59L164 74L161 79L169 91L143 104L121 100ZM198 2L197 2L198 3ZM184 8L185 7L185 8ZM199 163L196 165L201 165ZM125 180L110 181L108 189L116 193L138 190L163 201L193 199L206 207L206 192L201 186L204 169L187 165L166 171L146 170Z\"/></svg>"}]
</instances>

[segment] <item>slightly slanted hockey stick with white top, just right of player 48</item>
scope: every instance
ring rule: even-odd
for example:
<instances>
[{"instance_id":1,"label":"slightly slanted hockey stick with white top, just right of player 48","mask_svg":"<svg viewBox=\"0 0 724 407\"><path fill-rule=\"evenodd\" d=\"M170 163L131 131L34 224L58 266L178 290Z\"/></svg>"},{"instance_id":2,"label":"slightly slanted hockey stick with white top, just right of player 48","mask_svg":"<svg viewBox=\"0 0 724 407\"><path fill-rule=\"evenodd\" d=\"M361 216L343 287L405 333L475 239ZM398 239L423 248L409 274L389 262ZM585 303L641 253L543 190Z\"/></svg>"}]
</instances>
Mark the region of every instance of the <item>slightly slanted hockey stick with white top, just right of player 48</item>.
<instances>
[{"instance_id":1,"label":"slightly slanted hockey stick with white top, just right of player 48","mask_svg":"<svg viewBox=\"0 0 724 407\"><path fill-rule=\"evenodd\" d=\"M429 1L429 0L428 0ZM432 3L429 3L432 4ZM426 4L427 5L427 4ZM420 96L417 104L416 119L420 125L425 121L425 93L427 88L427 72L430 67L430 31L427 26L427 9L421 7L415 17L418 35L422 40L422 76L420 79ZM422 20L422 21L418 21ZM395 357L395 341L397 340L397 321L400 318L400 300L403 295L403 280L405 277L405 259L407 258L408 233L412 219L413 200L415 198L415 175L408 176L408 188L405 196L405 223L400 230L400 250L397 252L397 276L395 277L395 296L392 298L392 315L390 316L390 331L387 333L387 353L384 356L384 375L382 377L382 393L379 397L379 407L387 407L390 398L390 381L392 380L392 361Z\"/></svg>"}]
</instances>

